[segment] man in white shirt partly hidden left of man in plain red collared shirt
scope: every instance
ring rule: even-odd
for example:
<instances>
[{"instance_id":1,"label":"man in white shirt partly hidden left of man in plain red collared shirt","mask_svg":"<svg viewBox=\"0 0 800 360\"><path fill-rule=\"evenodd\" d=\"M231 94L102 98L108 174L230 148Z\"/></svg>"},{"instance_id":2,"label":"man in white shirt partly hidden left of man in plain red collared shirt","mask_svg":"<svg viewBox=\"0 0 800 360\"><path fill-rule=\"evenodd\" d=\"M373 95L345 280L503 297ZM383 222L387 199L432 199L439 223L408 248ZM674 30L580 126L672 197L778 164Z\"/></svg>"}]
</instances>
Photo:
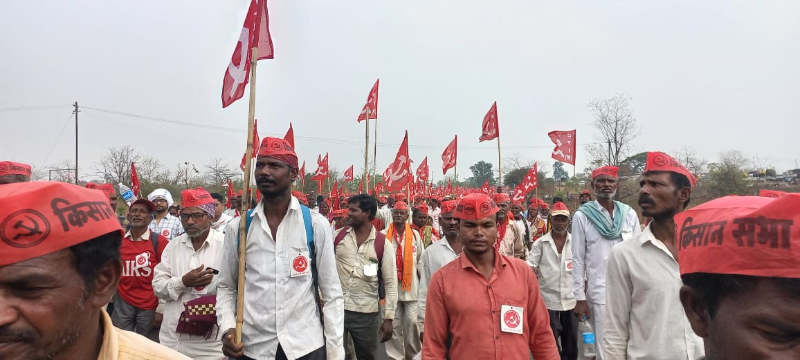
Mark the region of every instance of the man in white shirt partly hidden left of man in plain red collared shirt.
<instances>
[{"instance_id":1,"label":"man in white shirt partly hidden left of man in plain red collared shirt","mask_svg":"<svg viewBox=\"0 0 800 360\"><path fill-rule=\"evenodd\" d=\"M428 296L428 284L434 272L441 269L450 261L453 261L461 251L464 245L461 239L458 238L458 220L453 217L453 212L458 206L456 200L446 200L442 203L442 233L444 239L441 239L422 252L422 258L419 260L419 295L417 299L417 322L419 323L419 338L425 332L425 303Z\"/></svg>"}]
</instances>

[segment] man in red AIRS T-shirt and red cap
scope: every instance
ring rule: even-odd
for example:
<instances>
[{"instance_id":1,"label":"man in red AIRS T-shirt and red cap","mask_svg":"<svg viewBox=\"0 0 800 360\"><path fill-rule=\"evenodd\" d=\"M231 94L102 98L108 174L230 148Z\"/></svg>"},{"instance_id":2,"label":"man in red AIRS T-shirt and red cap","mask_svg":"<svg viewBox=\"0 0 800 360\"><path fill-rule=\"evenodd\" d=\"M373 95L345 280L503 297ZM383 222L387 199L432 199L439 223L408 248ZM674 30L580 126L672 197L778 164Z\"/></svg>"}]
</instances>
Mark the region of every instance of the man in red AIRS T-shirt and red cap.
<instances>
[{"instance_id":1,"label":"man in red AIRS T-shirt and red cap","mask_svg":"<svg viewBox=\"0 0 800 360\"><path fill-rule=\"evenodd\" d=\"M122 330L135 331L158 341L162 315L155 319L158 299L153 293L153 268L161 260L167 239L148 228L154 213L155 204L150 200L139 199L130 204L130 230L119 248L122 276L114 296L111 322Z\"/></svg>"}]
</instances>

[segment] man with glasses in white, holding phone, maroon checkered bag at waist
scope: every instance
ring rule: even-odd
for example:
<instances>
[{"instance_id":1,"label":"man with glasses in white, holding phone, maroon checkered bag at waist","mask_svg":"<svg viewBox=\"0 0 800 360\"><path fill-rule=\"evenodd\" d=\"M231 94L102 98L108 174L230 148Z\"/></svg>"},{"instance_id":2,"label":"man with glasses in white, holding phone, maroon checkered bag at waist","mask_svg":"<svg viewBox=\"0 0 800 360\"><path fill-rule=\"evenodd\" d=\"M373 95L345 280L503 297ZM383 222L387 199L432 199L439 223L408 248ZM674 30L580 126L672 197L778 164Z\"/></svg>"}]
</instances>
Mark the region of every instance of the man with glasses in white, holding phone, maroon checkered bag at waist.
<instances>
[{"instance_id":1,"label":"man with glasses in white, holding phone, maroon checkered bag at waist","mask_svg":"<svg viewBox=\"0 0 800 360\"><path fill-rule=\"evenodd\" d=\"M214 301L214 272L222 266L223 237L211 228L216 206L206 190L184 190L181 196L180 218L186 232L167 243L161 263L153 271L153 291L158 299L166 300L158 340L194 360L218 360L222 343L217 324L187 322L184 310L194 299Z\"/></svg>"}]
</instances>

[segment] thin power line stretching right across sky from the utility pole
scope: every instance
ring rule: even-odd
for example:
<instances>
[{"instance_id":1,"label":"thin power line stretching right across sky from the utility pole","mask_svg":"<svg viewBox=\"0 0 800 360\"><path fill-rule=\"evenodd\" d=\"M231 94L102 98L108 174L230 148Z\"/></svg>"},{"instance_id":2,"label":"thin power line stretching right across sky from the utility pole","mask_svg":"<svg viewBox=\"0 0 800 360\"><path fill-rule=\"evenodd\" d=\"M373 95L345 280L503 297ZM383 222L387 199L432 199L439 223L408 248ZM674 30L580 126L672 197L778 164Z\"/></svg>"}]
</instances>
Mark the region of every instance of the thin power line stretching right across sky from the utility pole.
<instances>
[{"instance_id":1,"label":"thin power line stretching right across sky from the utility pole","mask_svg":"<svg viewBox=\"0 0 800 360\"><path fill-rule=\"evenodd\" d=\"M141 114L125 113L125 112L122 112L122 111L94 108L94 107L91 107L91 106L81 106L81 108L84 109L84 110L94 110L94 111L99 112L99 113L109 113L109 114L118 115L118 116L122 116L122 117L134 117L134 118L142 119L142 120L159 121L159 122L165 122L165 123L175 124L175 125L191 126L191 127L194 127L194 128L219 130L219 131L224 131L224 132L228 132L228 133L240 133L240 134L246 133L246 130L234 129L234 128L226 128L224 126L205 125L205 124L198 124L198 123L193 123L193 122L188 122L188 121L177 121L177 120L172 120L172 119L166 119L166 118L163 118L163 117L150 117L150 116L141 115ZM266 133L266 135L282 136L282 134L278 134L278 133ZM312 141L312 142L317 142L317 143L321 142L321 143L326 143L326 144L342 144L342 145L358 145L358 146L362 146L364 144L364 142L360 141L360 140L354 141L354 140L330 139L330 138L312 137L312 136L295 136L295 139L298 139L298 140L309 140L309 141ZM586 143L586 144L578 144L578 145L583 146L583 145L589 145L589 144L601 144L601 143ZM390 147L400 146L400 144L399 143L380 143L379 142L378 146L380 146L382 148L390 148ZM439 149L439 148L445 148L447 145L446 144L441 144L441 145L409 144L408 146L409 146L409 148L436 148L436 149ZM502 148L506 148L506 149L552 148L553 146L554 145L552 145L552 144L546 144L546 145L510 145L510 146L506 145L506 146L502 146ZM463 145L461 145L458 148L459 148L459 150L460 149L487 150L487 149L493 149L494 146L490 146L490 145L487 145L487 146L463 146Z\"/></svg>"}]
</instances>

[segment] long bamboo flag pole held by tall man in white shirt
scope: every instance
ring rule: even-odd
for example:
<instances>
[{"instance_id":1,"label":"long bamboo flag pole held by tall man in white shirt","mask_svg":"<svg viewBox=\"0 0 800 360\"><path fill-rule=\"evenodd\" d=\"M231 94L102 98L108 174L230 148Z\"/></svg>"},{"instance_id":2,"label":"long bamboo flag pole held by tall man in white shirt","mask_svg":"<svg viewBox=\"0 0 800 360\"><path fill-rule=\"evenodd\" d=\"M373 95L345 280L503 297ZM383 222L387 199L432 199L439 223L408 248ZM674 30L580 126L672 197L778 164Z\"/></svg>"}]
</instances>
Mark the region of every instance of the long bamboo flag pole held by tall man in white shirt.
<instances>
[{"instance_id":1,"label":"long bamboo flag pole held by tall man in white shirt","mask_svg":"<svg viewBox=\"0 0 800 360\"><path fill-rule=\"evenodd\" d=\"M242 188L242 217L239 221L239 277L236 294L236 343L242 343L242 323L245 308L245 251L247 249L247 228L245 221L250 208L250 171L253 167L253 127L255 123L255 65L258 61L258 46L251 49L250 55L250 112L247 115L247 148L245 150L245 176Z\"/></svg>"}]
</instances>

